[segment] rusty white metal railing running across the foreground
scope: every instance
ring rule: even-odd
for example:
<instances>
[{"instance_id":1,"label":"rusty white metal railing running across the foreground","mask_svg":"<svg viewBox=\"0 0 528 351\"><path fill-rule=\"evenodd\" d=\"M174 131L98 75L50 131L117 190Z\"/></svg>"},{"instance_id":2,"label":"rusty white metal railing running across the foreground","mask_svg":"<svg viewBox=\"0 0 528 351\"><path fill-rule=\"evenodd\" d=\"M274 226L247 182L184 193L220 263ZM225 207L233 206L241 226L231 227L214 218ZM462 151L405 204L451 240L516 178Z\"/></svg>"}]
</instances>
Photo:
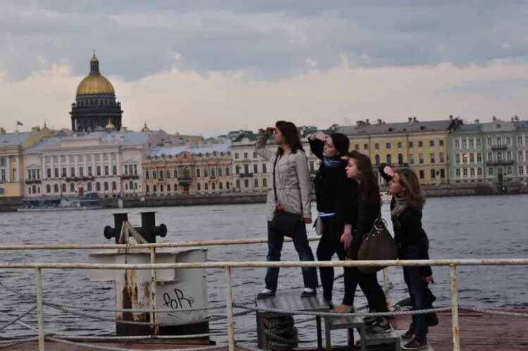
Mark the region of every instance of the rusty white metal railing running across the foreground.
<instances>
[{"instance_id":1,"label":"rusty white metal railing running across the foreground","mask_svg":"<svg viewBox=\"0 0 528 351\"><path fill-rule=\"evenodd\" d=\"M319 237L310 237L309 240L319 240ZM34 269L35 284L37 290L36 308L38 324L38 341L39 351L44 351L44 300L42 295L42 270L43 269L150 269L151 270L151 301L154 307L156 304L156 270L158 269L218 269L225 270L225 299L227 307L227 336L229 350L234 351L237 345L234 339L234 312L233 309L239 304L233 302L232 295L232 269L240 268L267 268L267 267L362 267L362 266L448 266L450 285L451 285L451 315L452 315L452 333L453 333L453 350L460 351L460 331L458 326L458 305L457 296L457 266L513 266L528 265L528 259L429 259L429 260L391 260L391 261L225 261L225 262L193 262L193 263L170 263L156 264L156 248L158 247L197 247L213 245L246 245L253 243L264 243L267 239L244 239L244 240L206 240L195 242L166 242L156 244L138 244L138 245L4 245L0 246L1 250L68 250L68 249L115 249L115 248L149 248L151 254L150 264L64 264L64 263L0 263L0 269ZM284 241L291 241L285 238ZM387 282L387 276L384 275L384 282ZM244 307L242 307L244 308ZM247 309L251 309L246 307ZM464 307L464 309L472 309ZM434 309L436 311L444 309ZM137 310L127 309L129 312ZM432 311L432 310L425 310ZM480 310L479 310L480 311ZM159 326L157 313L163 310L149 309L152 314L153 326ZM384 312L384 313L355 313L346 314L354 316L394 316L398 314L419 314L428 312ZM29 312L27 312L29 313ZM296 314L305 314L310 316L336 316L337 314L327 312L297 312ZM496 314L507 314L507 312L496 312ZM513 314L516 316L528 317L528 314ZM20 322L21 323L21 322ZM47 337L48 340L58 340L57 338ZM205 350L207 347L202 347ZM251 349L251 347L250 347Z\"/></svg>"}]
</instances>

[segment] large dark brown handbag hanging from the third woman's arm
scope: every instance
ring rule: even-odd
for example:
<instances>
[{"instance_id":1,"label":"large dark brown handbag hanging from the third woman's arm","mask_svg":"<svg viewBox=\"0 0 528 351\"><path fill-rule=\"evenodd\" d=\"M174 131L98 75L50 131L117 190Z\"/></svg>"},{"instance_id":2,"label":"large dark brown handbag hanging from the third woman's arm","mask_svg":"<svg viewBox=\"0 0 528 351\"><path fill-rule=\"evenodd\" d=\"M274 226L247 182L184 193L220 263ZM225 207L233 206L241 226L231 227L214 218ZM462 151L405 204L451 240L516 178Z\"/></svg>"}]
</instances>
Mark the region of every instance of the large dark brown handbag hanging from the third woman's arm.
<instances>
[{"instance_id":1,"label":"large dark brown handbag hanging from the third woman's arm","mask_svg":"<svg viewBox=\"0 0 528 351\"><path fill-rule=\"evenodd\" d=\"M386 259L398 259L398 246L386 228L386 221L377 218L369 233L363 235L363 241L359 245L358 261L379 261ZM376 273L385 267L358 267L361 273Z\"/></svg>"}]
</instances>

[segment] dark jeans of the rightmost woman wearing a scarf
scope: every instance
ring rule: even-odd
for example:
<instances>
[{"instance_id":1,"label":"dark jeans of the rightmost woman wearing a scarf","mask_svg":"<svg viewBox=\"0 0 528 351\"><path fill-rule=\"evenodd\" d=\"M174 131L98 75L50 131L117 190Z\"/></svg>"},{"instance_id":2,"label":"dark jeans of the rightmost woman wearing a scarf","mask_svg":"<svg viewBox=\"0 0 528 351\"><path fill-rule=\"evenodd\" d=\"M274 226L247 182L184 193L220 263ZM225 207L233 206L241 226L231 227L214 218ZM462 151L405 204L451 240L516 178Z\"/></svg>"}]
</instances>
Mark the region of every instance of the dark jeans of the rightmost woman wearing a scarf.
<instances>
[{"instance_id":1,"label":"dark jeans of the rightmost woman wearing a scarf","mask_svg":"<svg viewBox=\"0 0 528 351\"><path fill-rule=\"evenodd\" d=\"M417 245L401 245L398 256L400 259L429 259L427 250L429 249L429 240L425 238ZM430 290L427 287L427 282L424 276L427 269L422 266L404 266L403 278L405 278L407 288L409 290L410 302L413 309L428 309L431 307L429 296ZM427 316L425 314L413 314L413 327L415 335L419 341L427 340Z\"/></svg>"}]
</instances>

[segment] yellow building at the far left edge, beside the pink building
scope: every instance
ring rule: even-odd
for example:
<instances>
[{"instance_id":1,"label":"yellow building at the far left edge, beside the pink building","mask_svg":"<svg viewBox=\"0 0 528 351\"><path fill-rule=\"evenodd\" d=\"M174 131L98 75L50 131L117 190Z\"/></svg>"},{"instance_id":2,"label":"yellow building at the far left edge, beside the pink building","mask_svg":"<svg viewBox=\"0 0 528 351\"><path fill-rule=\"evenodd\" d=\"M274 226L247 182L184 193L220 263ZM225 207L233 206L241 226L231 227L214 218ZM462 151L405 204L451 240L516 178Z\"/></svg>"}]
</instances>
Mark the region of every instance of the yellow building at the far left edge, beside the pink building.
<instances>
[{"instance_id":1,"label":"yellow building at the far left edge, beside the pink building","mask_svg":"<svg viewBox=\"0 0 528 351\"><path fill-rule=\"evenodd\" d=\"M0 198L22 197L22 151L32 147L44 137L55 135L55 131L46 127L33 127L31 132L6 133L0 128Z\"/></svg>"}]
</instances>

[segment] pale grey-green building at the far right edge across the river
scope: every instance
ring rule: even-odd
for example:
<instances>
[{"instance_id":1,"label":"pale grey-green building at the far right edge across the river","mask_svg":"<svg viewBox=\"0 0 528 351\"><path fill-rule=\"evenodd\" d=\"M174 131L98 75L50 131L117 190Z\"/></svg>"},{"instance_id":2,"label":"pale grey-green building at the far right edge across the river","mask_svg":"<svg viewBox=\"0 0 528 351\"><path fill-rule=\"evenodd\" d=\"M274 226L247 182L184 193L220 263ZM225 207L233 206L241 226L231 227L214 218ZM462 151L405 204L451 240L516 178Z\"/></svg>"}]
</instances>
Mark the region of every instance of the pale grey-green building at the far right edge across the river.
<instances>
[{"instance_id":1,"label":"pale grey-green building at the far right edge across the river","mask_svg":"<svg viewBox=\"0 0 528 351\"><path fill-rule=\"evenodd\" d=\"M528 121L462 125L449 137L453 183L526 182Z\"/></svg>"}]
</instances>

